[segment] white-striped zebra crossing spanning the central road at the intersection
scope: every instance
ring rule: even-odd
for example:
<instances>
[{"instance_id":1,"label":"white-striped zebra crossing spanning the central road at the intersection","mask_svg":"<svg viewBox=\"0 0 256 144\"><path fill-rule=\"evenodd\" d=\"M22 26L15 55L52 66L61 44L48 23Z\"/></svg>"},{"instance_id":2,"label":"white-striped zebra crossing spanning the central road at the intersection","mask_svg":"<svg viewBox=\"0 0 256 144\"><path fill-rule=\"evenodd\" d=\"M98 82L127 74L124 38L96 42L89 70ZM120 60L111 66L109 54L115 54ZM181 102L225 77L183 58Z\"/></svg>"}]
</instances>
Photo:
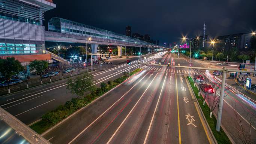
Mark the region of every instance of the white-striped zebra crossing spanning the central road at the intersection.
<instances>
[{"instance_id":1,"label":"white-striped zebra crossing spanning the central road at the intersection","mask_svg":"<svg viewBox=\"0 0 256 144\"><path fill-rule=\"evenodd\" d=\"M189 74L189 70L180 70L179 68L171 68L171 67L147 67L145 70L149 71L157 71L157 72L165 72L165 73L176 73L176 74ZM197 71L194 71L193 69L190 70L191 75L198 75L199 73Z\"/></svg>"}]
</instances>

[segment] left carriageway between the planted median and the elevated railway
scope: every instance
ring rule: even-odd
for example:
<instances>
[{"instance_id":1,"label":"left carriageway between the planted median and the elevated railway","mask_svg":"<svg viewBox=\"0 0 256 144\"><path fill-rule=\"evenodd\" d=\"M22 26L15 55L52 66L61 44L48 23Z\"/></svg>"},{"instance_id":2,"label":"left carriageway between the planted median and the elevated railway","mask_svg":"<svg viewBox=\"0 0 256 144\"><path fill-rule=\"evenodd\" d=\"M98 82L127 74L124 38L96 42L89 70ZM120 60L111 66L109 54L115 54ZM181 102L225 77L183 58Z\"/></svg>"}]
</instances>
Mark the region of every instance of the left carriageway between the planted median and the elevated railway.
<instances>
[{"instance_id":1,"label":"left carriageway between the planted median and the elevated railway","mask_svg":"<svg viewBox=\"0 0 256 144\"><path fill-rule=\"evenodd\" d=\"M159 55L147 56L145 62L151 61ZM140 66L135 59L139 59L139 57L133 58L131 61L131 71ZM95 71L91 72L94 80L96 80L95 84L106 83L109 80L123 76L125 71L128 72L129 66L126 59L121 59L121 61L115 62L116 65L99 65L98 68L95 68ZM58 80L46 85L0 96L0 106L25 124L30 125L40 120L47 111L54 110L60 104L65 104L71 98L77 97L67 91L66 81L67 79Z\"/></svg>"}]
</instances>

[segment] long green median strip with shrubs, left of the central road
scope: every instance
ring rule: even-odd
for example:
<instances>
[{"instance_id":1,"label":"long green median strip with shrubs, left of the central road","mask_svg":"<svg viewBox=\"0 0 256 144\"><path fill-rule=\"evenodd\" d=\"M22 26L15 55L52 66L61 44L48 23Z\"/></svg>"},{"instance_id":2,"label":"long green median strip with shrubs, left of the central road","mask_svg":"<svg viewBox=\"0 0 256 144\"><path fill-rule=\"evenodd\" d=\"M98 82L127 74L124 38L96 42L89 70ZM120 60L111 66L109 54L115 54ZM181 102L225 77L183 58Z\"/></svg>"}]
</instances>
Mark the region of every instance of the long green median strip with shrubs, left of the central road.
<instances>
[{"instance_id":1,"label":"long green median strip with shrubs, left of the central road","mask_svg":"<svg viewBox=\"0 0 256 144\"><path fill-rule=\"evenodd\" d=\"M138 73L139 71L141 71L141 69L137 68L130 73L130 76ZM42 134L52 126L56 125L57 123L70 116L75 111L90 104L94 99L115 88L117 85L128 79L128 77L129 74L124 73L124 76L119 77L118 79L115 79L113 81L109 80L107 83L101 83L100 88L96 87L93 91L91 91L90 94L84 96L83 99L72 98L71 101L67 101L64 105L59 105L55 110L49 111L44 114L42 116L42 120L34 123L30 126L30 128L36 131L38 134Z\"/></svg>"}]
</instances>

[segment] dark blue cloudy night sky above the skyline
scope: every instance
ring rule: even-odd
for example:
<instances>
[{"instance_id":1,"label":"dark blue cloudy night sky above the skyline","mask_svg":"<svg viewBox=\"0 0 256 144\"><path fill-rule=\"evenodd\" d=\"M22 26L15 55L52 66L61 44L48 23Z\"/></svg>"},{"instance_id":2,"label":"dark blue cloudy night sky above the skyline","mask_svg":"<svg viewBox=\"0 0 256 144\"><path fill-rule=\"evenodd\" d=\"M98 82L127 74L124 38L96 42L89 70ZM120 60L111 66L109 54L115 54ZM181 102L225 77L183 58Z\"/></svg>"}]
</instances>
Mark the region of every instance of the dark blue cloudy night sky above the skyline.
<instances>
[{"instance_id":1,"label":"dark blue cloudy night sky above the skyline","mask_svg":"<svg viewBox=\"0 0 256 144\"><path fill-rule=\"evenodd\" d=\"M251 33L256 29L256 0L54 0L55 9L45 13L52 17L125 34L149 34L153 40L178 42L182 35L221 36ZM46 24L45 24L46 25Z\"/></svg>"}]
</instances>

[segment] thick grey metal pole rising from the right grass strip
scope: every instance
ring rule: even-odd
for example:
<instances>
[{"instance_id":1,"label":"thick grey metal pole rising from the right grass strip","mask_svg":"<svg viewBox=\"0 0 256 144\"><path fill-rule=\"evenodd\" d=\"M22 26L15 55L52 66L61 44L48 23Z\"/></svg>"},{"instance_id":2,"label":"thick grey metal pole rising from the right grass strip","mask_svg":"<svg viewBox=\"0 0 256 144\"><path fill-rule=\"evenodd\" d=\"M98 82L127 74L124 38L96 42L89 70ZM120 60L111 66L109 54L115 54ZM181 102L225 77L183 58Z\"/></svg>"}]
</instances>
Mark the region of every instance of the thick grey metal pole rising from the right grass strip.
<instances>
[{"instance_id":1,"label":"thick grey metal pole rising from the right grass strip","mask_svg":"<svg viewBox=\"0 0 256 144\"><path fill-rule=\"evenodd\" d=\"M222 108L223 108L223 99L224 99L224 91L225 91L225 83L226 83L226 75L228 69L223 67L223 75L221 81L221 89L220 89L220 101L219 101L219 110L217 116L217 124L216 124L216 131L220 131L220 124L221 124L221 116L222 116Z\"/></svg>"}]
</instances>

